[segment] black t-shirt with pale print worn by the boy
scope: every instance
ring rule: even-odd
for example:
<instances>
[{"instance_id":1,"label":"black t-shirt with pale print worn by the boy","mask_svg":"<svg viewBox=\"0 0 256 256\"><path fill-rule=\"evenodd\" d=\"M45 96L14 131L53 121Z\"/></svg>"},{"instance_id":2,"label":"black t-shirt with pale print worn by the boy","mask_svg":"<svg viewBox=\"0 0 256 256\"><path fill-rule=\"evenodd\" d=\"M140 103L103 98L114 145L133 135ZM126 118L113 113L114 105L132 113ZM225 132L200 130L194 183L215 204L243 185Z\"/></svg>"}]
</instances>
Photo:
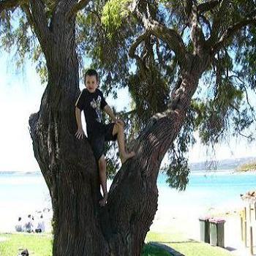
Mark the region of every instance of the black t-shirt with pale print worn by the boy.
<instances>
[{"instance_id":1,"label":"black t-shirt with pale print worn by the boy","mask_svg":"<svg viewBox=\"0 0 256 256\"><path fill-rule=\"evenodd\" d=\"M99 89L92 93L87 89L81 91L75 106L81 111L83 110L88 137L103 131L102 110L105 105L108 105L108 103Z\"/></svg>"}]
</instances>

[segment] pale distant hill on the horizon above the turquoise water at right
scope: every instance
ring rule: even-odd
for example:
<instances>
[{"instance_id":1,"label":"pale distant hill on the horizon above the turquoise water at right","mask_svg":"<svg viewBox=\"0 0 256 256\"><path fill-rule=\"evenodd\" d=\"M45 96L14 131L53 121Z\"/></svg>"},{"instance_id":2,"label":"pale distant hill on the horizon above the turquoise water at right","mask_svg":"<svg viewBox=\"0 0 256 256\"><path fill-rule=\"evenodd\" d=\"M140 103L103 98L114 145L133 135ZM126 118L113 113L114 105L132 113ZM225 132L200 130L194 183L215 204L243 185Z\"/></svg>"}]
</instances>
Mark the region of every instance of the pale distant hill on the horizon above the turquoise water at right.
<instances>
[{"instance_id":1,"label":"pale distant hill on the horizon above the turquoise water at right","mask_svg":"<svg viewBox=\"0 0 256 256\"><path fill-rule=\"evenodd\" d=\"M256 160L256 157L243 157L236 159L224 159L212 162L193 162L189 165L190 170L235 170L236 167L246 162Z\"/></svg>"}]
</instances>

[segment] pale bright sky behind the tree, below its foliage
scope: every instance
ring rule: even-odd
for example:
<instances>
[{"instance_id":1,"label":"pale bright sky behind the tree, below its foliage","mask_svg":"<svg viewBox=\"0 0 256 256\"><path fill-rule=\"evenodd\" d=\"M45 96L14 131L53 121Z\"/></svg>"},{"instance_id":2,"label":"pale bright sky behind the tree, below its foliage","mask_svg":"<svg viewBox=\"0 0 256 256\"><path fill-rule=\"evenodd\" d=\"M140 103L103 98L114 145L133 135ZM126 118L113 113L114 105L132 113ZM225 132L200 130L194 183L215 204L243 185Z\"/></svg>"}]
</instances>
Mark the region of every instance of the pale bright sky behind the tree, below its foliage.
<instances>
[{"instance_id":1,"label":"pale bright sky behind the tree, below its foliage","mask_svg":"<svg viewBox=\"0 0 256 256\"><path fill-rule=\"evenodd\" d=\"M80 89L83 89L80 83ZM39 110L45 86L40 83L34 64L29 61L23 72L15 69L15 63L7 54L0 55L0 171L39 171L34 158L32 140L29 135L29 116ZM118 92L118 99L106 98L110 107L122 110L129 106L127 89ZM83 127L85 127L82 115ZM256 145L247 145L246 140L231 140L230 146L219 145L215 159L255 157ZM189 162L200 162L212 154L196 143L189 151Z\"/></svg>"}]
</instances>

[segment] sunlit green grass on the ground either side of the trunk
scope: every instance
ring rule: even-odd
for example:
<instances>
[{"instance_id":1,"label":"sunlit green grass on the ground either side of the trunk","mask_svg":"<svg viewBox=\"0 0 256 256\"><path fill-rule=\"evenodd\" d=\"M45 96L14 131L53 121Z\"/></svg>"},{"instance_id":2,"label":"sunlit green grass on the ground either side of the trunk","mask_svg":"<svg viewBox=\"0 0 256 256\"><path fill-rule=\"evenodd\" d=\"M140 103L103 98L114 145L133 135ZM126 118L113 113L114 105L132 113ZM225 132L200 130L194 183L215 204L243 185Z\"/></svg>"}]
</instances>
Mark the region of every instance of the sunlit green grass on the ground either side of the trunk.
<instances>
[{"instance_id":1,"label":"sunlit green grass on the ground either side of the trunk","mask_svg":"<svg viewBox=\"0 0 256 256\"><path fill-rule=\"evenodd\" d=\"M7 238L6 241L1 241ZM186 256L230 256L225 249L214 247L209 244L200 243L184 238L182 234L148 232L146 242L157 241L161 244L172 247ZM29 233L4 233L0 234L0 255L16 256L19 249L28 249L29 255L51 256L52 238L50 233L29 234ZM170 253L146 244L143 247L142 256L167 256Z\"/></svg>"}]
</instances>

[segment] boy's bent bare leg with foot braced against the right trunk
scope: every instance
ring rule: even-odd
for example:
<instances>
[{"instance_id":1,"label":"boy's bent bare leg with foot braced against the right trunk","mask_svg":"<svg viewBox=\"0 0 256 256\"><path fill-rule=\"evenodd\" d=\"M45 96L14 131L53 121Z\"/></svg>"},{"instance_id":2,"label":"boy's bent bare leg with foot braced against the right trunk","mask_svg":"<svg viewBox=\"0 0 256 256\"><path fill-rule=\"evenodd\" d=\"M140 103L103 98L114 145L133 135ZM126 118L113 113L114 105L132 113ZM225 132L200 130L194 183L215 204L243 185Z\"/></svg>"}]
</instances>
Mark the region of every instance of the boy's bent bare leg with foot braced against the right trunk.
<instances>
[{"instance_id":1,"label":"boy's bent bare leg with foot braced against the right trunk","mask_svg":"<svg viewBox=\"0 0 256 256\"><path fill-rule=\"evenodd\" d=\"M125 151L125 148L124 148L124 125L114 124L112 135L114 136L116 134L117 134L117 141L118 141L118 146L119 146L119 151L120 151L121 162L122 162L122 164L124 164L124 162L126 162L127 159L135 156L135 152L132 151L132 152L127 153Z\"/></svg>"}]
</instances>

